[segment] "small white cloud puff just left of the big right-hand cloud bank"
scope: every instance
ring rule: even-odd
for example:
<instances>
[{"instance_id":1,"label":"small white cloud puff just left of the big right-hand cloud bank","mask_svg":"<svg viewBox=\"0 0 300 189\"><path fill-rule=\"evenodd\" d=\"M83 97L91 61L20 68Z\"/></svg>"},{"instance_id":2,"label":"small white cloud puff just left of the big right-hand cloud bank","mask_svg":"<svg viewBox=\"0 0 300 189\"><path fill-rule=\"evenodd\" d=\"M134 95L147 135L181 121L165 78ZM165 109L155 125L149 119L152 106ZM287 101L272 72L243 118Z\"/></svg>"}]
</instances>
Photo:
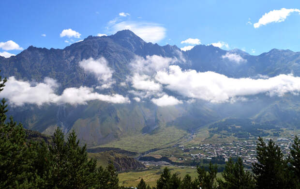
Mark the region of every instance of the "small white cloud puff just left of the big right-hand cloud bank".
<instances>
[{"instance_id":1,"label":"small white cloud puff just left of the big right-hand cloud bank","mask_svg":"<svg viewBox=\"0 0 300 189\"><path fill-rule=\"evenodd\" d=\"M132 86L138 90L160 91L162 86L150 79L150 76L135 74L132 77Z\"/></svg>"}]
</instances>

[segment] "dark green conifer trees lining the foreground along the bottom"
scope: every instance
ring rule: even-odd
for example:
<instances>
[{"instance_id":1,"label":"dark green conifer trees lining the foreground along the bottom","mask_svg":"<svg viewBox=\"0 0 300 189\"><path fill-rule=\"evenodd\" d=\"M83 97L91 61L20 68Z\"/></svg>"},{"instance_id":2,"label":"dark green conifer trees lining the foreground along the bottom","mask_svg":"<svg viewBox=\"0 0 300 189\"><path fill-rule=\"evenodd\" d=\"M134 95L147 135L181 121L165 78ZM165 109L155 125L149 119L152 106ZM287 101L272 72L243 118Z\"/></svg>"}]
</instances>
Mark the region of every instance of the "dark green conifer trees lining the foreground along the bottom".
<instances>
[{"instance_id":1,"label":"dark green conifer trees lining the foreground along the bottom","mask_svg":"<svg viewBox=\"0 0 300 189\"><path fill-rule=\"evenodd\" d=\"M0 92L6 79L0 77ZM60 128L53 142L28 142L22 124L7 119L5 99L0 102L0 188L1 189L124 189L113 164L96 166L85 146L79 146L75 131L67 140ZM290 155L284 157L280 147L270 140L258 139L258 162L252 172L244 170L241 158L229 159L223 179L217 178L217 165L209 169L197 166L197 177L189 174L181 180L165 168L150 187L141 179L137 189L300 189L300 140L296 136Z\"/></svg>"}]
</instances>

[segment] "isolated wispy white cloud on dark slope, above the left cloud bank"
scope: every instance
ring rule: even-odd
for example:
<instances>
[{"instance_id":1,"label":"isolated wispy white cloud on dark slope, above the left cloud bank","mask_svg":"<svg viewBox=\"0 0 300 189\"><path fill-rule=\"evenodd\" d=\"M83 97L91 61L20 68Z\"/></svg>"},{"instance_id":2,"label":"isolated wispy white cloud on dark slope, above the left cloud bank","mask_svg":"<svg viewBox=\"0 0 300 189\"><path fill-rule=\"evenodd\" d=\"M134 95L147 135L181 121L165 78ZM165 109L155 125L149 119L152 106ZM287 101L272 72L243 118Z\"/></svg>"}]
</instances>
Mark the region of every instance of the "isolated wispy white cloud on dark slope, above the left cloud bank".
<instances>
[{"instance_id":1,"label":"isolated wispy white cloud on dark slope, above the left cloud bank","mask_svg":"<svg viewBox=\"0 0 300 189\"><path fill-rule=\"evenodd\" d=\"M107 81L111 79L113 70L108 66L108 62L104 57L97 60L93 58L84 59L79 62L79 66L84 69L84 71L94 74L99 81Z\"/></svg>"}]
</instances>

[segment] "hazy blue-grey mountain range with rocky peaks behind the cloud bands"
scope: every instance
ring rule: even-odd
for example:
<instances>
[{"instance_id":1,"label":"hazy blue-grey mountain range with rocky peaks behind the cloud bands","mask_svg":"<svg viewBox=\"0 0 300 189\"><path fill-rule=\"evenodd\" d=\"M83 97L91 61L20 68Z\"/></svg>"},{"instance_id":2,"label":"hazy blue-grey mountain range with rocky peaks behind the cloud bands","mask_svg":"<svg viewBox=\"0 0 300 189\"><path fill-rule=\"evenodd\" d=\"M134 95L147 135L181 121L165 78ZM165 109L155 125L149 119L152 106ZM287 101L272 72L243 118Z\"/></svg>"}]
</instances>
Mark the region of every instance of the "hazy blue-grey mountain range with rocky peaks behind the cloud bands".
<instances>
[{"instance_id":1,"label":"hazy blue-grey mountain range with rocky peaks behind the cloud bands","mask_svg":"<svg viewBox=\"0 0 300 189\"><path fill-rule=\"evenodd\" d=\"M129 82L130 78L134 77L133 69L137 69L133 67L133 60L140 57L145 62L148 56L153 55L169 57L168 61L173 60L170 64L180 65L182 70L212 71L229 78L257 79L291 73L293 76L300 76L300 52L272 49L253 56L239 49L226 51L211 45L197 45L191 50L181 51L176 46L162 47L146 43L132 31L124 30L110 36L89 36L64 49L30 46L16 56L0 57L0 74L36 83L44 82L48 77L56 79L59 83L57 94L61 94L66 88L86 86L101 94L120 94L128 97L130 103L118 104L99 100L78 105L25 103L23 106L10 106L9 113L26 128L45 134L53 133L57 126L62 127L65 133L75 129L78 138L89 146L105 144L135 134L150 134L166 126L193 131L227 117L249 118L260 124L268 123L274 126L299 127L300 98L294 94L255 94L247 96L247 101L235 103L210 103L203 99L193 99L194 102L190 103L187 96L164 88L158 91L177 97L180 103L176 106L156 106L151 98L161 97L162 94L138 88L139 86ZM99 82L105 79L99 80L90 74L91 71L84 70L79 62L90 58L98 60L102 57L112 70L109 77L112 85L99 89ZM160 66L153 63L147 65ZM151 78L144 75L143 77L151 83ZM143 95L152 97L135 98L137 93L142 92L145 93Z\"/></svg>"}]
</instances>

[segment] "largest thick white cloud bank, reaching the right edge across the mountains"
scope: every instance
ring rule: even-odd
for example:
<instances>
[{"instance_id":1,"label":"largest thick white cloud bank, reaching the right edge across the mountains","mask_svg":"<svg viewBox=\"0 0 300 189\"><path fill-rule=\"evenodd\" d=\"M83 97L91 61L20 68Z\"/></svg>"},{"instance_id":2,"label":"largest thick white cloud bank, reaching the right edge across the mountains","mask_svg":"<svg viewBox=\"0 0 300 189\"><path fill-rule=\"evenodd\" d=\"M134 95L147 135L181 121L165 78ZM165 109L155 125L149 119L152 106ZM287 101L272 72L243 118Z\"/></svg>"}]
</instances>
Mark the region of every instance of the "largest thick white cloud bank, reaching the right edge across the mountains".
<instances>
[{"instance_id":1,"label":"largest thick white cloud bank, reaching the right edge across the mountains","mask_svg":"<svg viewBox=\"0 0 300 189\"><path fill-rule=\"evenodd\" d=\"M283 96L300 92L300 77L279 75L269 79L228 78L214 72L182 71L178 65L159 71L155 79L166 89L185 97L202 99L213 103L230 101L239 96L266 93Z\"/></svg>"}]
</instances>

